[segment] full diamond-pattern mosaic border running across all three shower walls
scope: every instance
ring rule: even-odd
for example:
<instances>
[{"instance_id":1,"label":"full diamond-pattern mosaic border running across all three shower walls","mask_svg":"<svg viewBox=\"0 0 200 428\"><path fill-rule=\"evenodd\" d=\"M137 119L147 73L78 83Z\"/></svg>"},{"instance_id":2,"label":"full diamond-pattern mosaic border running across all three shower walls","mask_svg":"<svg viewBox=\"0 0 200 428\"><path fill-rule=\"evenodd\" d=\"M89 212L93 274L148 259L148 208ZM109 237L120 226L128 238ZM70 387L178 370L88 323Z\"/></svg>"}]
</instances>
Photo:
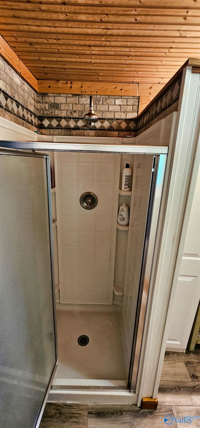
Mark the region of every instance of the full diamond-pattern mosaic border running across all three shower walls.
<instances>
[{"instance_id":1,"label":"full diamond-pattern mosaic border running across all three shower walls","mask_svg":"<svg viewBox=\"0 0 200 428\"><path fill-rule=\"evenodd\" d=\"M132 134L133 136L140 134L145 129L152 126L158 120L170 114L172 111L177 110L179 94L182 82L182 74L179 74L167 88L161 92L159 98L150 105L150 107L144 111L144 113L137 118L100 118L98 122L94 124L93 128L88 128L83 117L72 117L72 116L50 116L48 115L37 116L23 104L19 103L15 98L8 95L3 89L0 89L0 107L5 112L11 113L12 115L22 119L27 124L39 129L43 134L70 134L73 135L79 133L90 132L94 135L111 134L115 132L121 135L122 132ZM42 94L37 94L41 96ZM53 94L51 94L53 95ZM69 95L73 100L73 97ZM113 102L110 98L109 102ZM121 99L118 102L122 102ZM130 101L129 101L130 102ZM61 104L62 105L62 104ZM114 105L115 107L115 105ZM128 107L128 105L126 106ZM58 110L59 111L59 110ZM51 112L54 113L54 112ZM71 112L70 112L71 113ZM80 114L81 112L79 112ZM84 113L84 112L83 112ZM103 113L103 112L102 112ZM109 113L109 112L107 112ZM113 113L113 112L111 112ZM116 112L115 112L116 116Z\"/></svg>"}]
</instances>

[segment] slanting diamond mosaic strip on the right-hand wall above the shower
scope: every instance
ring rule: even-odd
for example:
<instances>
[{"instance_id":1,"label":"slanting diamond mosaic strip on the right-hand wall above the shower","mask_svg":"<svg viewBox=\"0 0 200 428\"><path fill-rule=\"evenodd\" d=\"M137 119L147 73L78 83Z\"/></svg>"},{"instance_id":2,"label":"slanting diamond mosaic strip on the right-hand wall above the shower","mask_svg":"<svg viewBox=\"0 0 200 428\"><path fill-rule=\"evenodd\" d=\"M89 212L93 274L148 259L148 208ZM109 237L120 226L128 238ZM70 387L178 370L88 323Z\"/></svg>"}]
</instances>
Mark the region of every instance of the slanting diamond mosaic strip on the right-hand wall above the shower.
<instances>
[{"instance_id":1,"label":"slanting diamond mosaic strip on the right-hand wall above the shower","mask_svg":"<svg viewBox=\"0 0 200 428\"><path fill-rule=\"evenodd\" d=\"M161 113L168 109L172 104L176 103L180 95L181 82L182 73L173 80L171 86L168 86L166 90L161 93L160 98L157 98L148 110L145 110L142 116L139 117L137 125L138 131L144 127L145 129L149 128L151 126L151 122L155 121L157 116L161 115Z\"/></svg>"}]
</instances>

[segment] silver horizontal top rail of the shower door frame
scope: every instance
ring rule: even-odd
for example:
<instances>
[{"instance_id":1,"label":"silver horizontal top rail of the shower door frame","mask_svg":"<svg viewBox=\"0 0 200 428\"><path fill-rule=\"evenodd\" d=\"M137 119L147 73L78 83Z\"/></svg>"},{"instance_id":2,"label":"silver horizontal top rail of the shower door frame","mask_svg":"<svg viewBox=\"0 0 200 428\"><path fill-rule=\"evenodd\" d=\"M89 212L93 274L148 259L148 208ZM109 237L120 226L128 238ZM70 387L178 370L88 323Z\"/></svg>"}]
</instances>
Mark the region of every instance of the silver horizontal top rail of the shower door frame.
<instances>
[{"instance_id":1,"label":"silver horizontal top rail of the shower door frame","mask_svg":"<svg viewBox=\"0 0 200 428\"><path fill-rule=\"evenodd\" d=\"M70 138L70 137L69 137ZM71 137L77 141L77 137ZM79 137L82 138L82 137ZM88 144L88 143L50 143L48 141L9 141L0 140L0 148L48 151L48 152L94 152L120 153L133 155L167 155L167 146L136 146L125 144ZM17 154L17 153L16 153Z\"/></svg>"}]
</instances>

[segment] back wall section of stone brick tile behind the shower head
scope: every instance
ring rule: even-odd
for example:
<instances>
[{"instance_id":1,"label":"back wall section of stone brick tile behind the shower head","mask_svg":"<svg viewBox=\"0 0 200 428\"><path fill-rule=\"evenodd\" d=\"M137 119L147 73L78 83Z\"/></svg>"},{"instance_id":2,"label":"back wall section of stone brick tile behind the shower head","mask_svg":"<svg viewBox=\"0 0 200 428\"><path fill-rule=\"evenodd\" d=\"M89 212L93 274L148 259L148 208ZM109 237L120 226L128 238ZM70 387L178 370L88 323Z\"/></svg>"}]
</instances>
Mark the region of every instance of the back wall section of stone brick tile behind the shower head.
<instances>
[{"instance_id":1,"label":"back wall section of stone brick tile behind the shower head","mask_svg":"<svg viewBox=\"0 0 200 428\"><path fill-rule=\"evenodd\" d=\"M94 95L93 104L99 121L89 129L83 120L89 110L88 95L37 94L39 131L88 137L135 135L139 97Z\"/></svg>"}]
</instances>

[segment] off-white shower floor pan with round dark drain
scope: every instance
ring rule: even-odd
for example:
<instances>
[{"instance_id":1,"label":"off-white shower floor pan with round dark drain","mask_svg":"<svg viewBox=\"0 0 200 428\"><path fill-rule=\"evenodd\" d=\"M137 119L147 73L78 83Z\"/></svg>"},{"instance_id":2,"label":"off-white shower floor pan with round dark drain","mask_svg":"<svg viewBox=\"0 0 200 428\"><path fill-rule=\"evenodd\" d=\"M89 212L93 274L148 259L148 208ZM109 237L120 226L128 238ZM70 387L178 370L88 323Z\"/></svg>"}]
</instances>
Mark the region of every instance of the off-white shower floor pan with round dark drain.
<instances>
[{"instance_id":1,"label":"off-white shower floor pan with round dark drain","mask_svg":"<svg viewBox=\"0 0 200 428\"><path fill-rule=\"evenodd\" d=\"M128 356L119 306L58 304L57 332L59 363L52 389L127 388ZM85 346L78 343L82 335L89 339Z\"/></svg>"}]
</instances>

